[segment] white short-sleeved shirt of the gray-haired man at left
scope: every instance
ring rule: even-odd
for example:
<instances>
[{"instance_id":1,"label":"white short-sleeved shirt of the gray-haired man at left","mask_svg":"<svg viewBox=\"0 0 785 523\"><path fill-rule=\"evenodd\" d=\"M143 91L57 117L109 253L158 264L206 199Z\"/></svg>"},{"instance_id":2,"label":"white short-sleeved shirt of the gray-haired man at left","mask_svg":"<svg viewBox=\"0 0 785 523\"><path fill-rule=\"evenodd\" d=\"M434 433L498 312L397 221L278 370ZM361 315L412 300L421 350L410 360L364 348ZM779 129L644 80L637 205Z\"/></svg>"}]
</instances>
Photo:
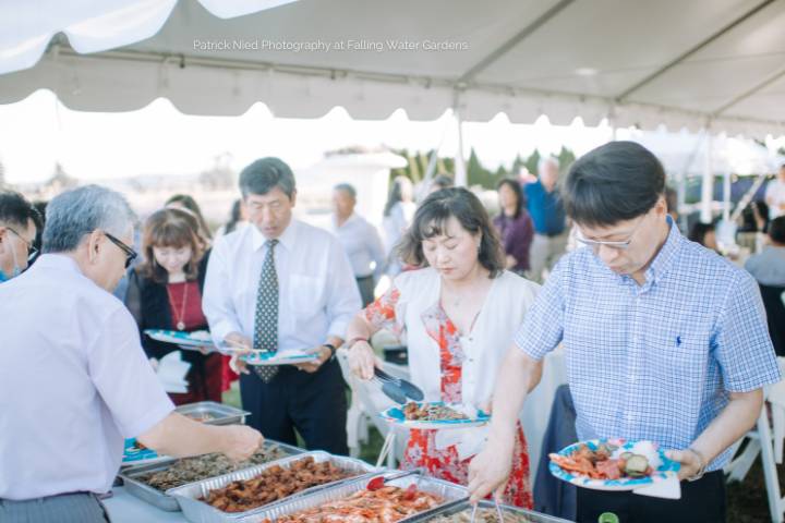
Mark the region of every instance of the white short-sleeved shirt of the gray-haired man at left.
<instances>
[{"instance_id":1,"label":"white short-sleeved shirt of the gray-haired man at left","mask_svg":"<svg viewBox=\"0 0 785 523\"><path fill-rule=\"evenodd\" d=\"M131 313L63 255L0 285L0 498L106 492L172 410Z\"/></svg>"}]
</instances>

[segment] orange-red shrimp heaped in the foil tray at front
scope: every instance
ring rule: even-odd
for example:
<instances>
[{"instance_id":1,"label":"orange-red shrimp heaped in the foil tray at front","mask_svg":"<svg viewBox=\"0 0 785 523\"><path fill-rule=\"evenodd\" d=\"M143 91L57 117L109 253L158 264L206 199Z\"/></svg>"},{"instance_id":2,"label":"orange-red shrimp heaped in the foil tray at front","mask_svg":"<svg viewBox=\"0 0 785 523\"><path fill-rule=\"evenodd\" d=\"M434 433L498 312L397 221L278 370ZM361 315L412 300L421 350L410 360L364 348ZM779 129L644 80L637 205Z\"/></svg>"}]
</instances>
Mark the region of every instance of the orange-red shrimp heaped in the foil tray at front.
<instances>
[{"instance_id":1,"label":"orange-red shrimp heaped in the foil tray at front","mask_svg":"<svg viewBox=\"0 0 785 523\"><path fill-rule=\"evenodd\" d=\"M276 518L276 523L392 523L442 504L434 494L409 488L385 486L360 490L348 498L290 515ZM264 520L271 523L271 520Z\"/></svg>"}]
</instances>

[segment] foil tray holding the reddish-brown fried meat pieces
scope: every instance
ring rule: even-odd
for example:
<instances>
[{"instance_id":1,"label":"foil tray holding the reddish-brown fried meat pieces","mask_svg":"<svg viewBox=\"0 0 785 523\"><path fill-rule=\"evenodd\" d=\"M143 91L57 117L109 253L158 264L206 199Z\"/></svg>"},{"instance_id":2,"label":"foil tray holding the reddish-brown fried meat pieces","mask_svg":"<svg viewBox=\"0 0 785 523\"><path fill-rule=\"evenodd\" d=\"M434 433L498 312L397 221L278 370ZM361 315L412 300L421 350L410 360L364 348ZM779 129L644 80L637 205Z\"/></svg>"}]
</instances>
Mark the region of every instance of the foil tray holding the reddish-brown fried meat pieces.
<instances>
[{"instance_id":1,"label":"foil tray holding the reddish-brown fried meat pieces","mask_svg":"<svg viewBox=\"0 0 785 523\"><path fill-rule=\"evenodd\" d=\"M198 500L198 498L204 498L205 496L207 496L210 490L215 490L216 488L222 488L238 479L252 479L253 477L257 476L262 471L269 469L270 466L279 465L287 467L291 462L307 457L312 457L314 461L316 461L316 463L324 463L326 461L329 461L336 466L357 473L359 477L341 479L340 482L328 483L325 485L306 488L305 490L301 490L300 492L289 496L288 498L285 498L282 500L274 501L265 507L257 507L245 512L222 512L212 507L210 504ZM275 507L281 503L286 503L289 499L300 498L310 494L315 494L324 489L328 489L333 485L340 485L345 482L352 482L360 478L365 478L366 481L367 477L378 472L379 469L369 463L365 463L364 461L355 460L353 458L345 458L341 455L333 455L327 452L316 450L312 452L303 452L302 454L292 455L290 458L285 458L282 460L278 460L271 463L265 463L263 465L256 465L250 469L244 469L242 471L232 472L231 474L225 474L222 476L218 476L212 479L205 479L202 482L192 483L191 485L172 488L171 490L168 490L167 494L173 496L177 499L178 503L180 503L180 509L183 511L183 515L191 523L235 523L238 521L245 521L244 518L247 518L250 514L253 514L261 510L265 510L267 507Z\"/></svg>"}]
</instances>

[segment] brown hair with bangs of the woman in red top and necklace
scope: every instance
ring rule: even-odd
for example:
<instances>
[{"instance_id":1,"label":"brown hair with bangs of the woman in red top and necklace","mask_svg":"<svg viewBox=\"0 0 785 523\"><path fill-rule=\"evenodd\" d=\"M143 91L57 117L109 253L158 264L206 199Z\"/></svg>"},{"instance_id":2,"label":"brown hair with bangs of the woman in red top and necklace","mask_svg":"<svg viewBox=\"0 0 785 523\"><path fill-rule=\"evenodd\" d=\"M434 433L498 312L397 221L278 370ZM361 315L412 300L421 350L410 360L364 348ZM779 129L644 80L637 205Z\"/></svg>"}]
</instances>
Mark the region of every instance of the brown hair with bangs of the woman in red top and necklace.
<instances>
[{"instance_id":1,"label":"brown hair with bangs of the woman in red top and necklace","mask_svg":"<svg viewBox=\"0 0 785 523\"><path fill-rule=\"evenodd\" d=\"M153 247L191 247L191 259L183 271L185 279L195 280L198 276L198 263L204 256L207 242L200 235L196 217L182 209L166 207L147 218L142 234L143 262L137 267L141 275L158 283L166 283L168 275L158 265Z\"/></svg>"}]
</instances>

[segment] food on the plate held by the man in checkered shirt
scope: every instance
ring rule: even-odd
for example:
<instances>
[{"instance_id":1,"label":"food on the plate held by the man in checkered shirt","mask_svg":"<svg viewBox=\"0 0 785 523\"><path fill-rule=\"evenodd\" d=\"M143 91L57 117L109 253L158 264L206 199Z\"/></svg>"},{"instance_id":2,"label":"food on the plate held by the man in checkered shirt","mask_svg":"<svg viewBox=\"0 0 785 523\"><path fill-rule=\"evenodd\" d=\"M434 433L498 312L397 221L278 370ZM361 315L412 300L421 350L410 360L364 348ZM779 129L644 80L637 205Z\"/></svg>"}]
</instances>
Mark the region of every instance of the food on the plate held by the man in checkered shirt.
<instances>
[{"instance_id":1,"label":"food on the plate held by the man in checkered shirt","mask_svg":"<svg viewBox=\"0 0 785 523\"><path fill-rule=\"evenodd\" d=\"M637 443L631 451L614 445L601 443L592 450L581 443L569 455L548 454L563 470L591 479L621 479L651 476L656 451L652 443ZM657 464L659 466L659 464Z\"/></svg>"}]
</instances>

